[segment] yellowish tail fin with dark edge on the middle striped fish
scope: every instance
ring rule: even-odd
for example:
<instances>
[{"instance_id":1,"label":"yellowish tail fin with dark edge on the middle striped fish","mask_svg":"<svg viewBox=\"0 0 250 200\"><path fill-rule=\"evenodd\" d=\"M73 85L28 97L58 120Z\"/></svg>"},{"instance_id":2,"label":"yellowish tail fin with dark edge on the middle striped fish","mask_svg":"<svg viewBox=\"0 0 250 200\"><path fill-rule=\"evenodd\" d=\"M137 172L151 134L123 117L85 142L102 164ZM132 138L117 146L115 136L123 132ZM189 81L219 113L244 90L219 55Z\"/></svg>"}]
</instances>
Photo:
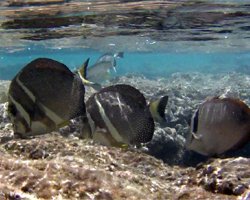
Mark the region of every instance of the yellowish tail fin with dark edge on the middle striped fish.
<instances>
[{"instance_id":1,"label":"yellowish tail fin with dark edge on the middle striped fish","mask_svg":"<svg viewBox=\"0 0 250 200\"><path fill-rule=\"evenodd\" d=\"M150 102L149 110L155 121L160 123L166 122L165 109L168 103L168 96L163 96L160 99Z\"/></svg>"}]
</instances>

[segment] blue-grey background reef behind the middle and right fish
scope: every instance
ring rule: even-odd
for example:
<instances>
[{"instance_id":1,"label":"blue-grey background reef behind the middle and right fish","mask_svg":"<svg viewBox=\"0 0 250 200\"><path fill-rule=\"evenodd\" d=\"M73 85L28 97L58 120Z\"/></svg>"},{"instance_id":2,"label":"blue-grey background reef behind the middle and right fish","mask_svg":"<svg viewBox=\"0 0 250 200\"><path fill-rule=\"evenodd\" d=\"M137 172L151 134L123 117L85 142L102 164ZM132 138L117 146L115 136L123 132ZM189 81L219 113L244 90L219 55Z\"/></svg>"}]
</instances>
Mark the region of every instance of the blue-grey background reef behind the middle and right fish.
<instances>
[{"instance_id":1,"label":"blue-grey background reef behind the middle and right fish","mask_svg":"<svg viewBox=\"0 0 250 200\"><path fill-rule=\"evenodd\" d=\"M147 144L149 153L169 164L193 165L206 160L184 147L189 133L192 114L197 106L209 96L227 96L243 100L250 105L249 75L239 73L203 74L175 73L163 79L147 79L142 76L122 76L109 84L129 83L138 88L148 100L169 95L167 123L157 126L153 140ZM228 156L250 157L250 144L229 152Z\"/></svg>"}]
</instances>

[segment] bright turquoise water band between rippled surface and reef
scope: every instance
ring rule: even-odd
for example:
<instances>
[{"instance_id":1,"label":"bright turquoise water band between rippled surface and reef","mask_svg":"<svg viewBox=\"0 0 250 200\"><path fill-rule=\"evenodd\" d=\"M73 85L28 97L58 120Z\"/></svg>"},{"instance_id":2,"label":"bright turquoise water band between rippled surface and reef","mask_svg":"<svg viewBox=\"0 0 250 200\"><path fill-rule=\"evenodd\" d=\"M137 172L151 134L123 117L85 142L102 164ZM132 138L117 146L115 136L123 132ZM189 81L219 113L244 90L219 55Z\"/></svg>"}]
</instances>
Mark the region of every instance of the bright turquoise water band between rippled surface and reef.
<instances>
[{"instance_id":1,"label":"bright turquoise water band between rippled surface and reef","mask_svg":"<svg viewBox=\"0 0 250 200\"><path fill-rule=\"evenodd\" d=\"M90 58L90 65L104 52L91 49L40 49L15 53L0 54L0 79L10 80L33 59L52 58L66 64L71 70L81 66ZM141 74L148 78L168 77L176 72L218 73L237 71L240 66L249 66L250 52L124 52L124 57L117 59L117 73Z\"/></svg>"}]
</instances>

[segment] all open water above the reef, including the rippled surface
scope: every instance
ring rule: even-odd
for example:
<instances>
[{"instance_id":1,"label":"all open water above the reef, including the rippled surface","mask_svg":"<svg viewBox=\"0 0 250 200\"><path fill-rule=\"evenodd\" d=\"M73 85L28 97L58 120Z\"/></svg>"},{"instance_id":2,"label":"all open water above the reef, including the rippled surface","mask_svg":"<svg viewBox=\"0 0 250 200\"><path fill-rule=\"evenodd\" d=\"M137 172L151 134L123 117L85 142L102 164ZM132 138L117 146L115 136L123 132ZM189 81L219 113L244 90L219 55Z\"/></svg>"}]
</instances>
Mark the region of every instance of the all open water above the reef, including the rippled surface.
<instances>
[{"instance_id":1,"label":"all open water above the reef, including the rippled surface","mask_svg":"<svg viewBox=\"0 0 250 200\"><path fill-rule=\"evenodd\" d=\"M0 1L0 79L12 79L39 57L74 70L87 58L91 65L117 51L124 51L124 58L117 59L114 76L250 69L249 1L138 1L141 7L134 8L135 2Z\"/></svg>"}]
</instances>

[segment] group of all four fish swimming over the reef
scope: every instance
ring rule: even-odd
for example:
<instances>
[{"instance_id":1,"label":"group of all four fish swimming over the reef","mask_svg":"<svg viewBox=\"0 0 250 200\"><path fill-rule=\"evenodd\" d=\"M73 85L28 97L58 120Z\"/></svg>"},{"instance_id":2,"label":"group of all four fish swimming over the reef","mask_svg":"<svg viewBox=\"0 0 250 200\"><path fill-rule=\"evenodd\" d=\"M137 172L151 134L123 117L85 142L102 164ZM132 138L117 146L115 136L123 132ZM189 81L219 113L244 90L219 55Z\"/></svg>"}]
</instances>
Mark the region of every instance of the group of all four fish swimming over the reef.
<instances>
[{"instance_id":1,"label":"group of all four fish swimming over the reef","mask_svg":"<svg viewBox=\"0 0 250 200\"><path fill-rule=\"evenodd\" d=\"M155 122L165 122L168 96L149 102L129 84L102 87L123 53L104 54L88 67L89 59L72 72L49 58L38 58L13 78L8 114L14 135L29 138L55 131L76 117L82 135L107 146L138 146L153 138ZM85 87L96 92L85 100ZM98 86L98 87L96 87ZM250 108L241 100L207 98L194 112L186 148L217 156L250 141Z\"/></svg>"}]
</instances>

